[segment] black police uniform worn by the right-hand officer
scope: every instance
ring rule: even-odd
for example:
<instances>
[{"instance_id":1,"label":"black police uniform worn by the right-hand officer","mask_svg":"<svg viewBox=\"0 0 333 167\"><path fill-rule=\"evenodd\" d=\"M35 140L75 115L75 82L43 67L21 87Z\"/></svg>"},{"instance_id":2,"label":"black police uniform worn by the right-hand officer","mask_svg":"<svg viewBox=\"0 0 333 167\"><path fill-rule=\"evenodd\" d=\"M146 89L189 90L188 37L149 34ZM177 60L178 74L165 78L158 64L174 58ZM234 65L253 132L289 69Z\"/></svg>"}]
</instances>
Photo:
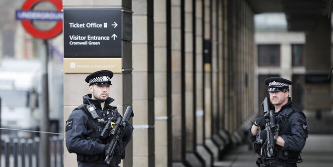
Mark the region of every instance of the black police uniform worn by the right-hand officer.
<instances>
[{"instance_id":1,"label":"black police uniform worn by the right-hand officer","mask_svg":"<svg viewBox=\"0 0 333 167\"><path fill-rule=\"evenodd\" d=\"M283 81L280 78L273 77L274 81ZM270 80L272 81L272 80ZM267 81L266 81L267 82ZM289 81L288 84L292 84ZM269 82L267 82L269 83ZM266 84L267 84L266 83ZM280 91L285 86L280 88L271 86L268 91ZM274 107L271 107L274 108ZM257 165L260 166L297 166L296 162L301 162L300 152L305 145L307 138L307 124L304 113L292 104L291 98L288 97L288 102L283 105L279 112L274 114L274 122L279 125L279 136L284 140L284 147L275 144L274 154L271 157L260 157L257 160ZM252 142L255 142L256 135L253 135L249 128L249 137ZM256 143L256 142L255 142ZM254 144L255 147L260 147ZM265 150L265 148L263 148ZM260 155L260 149L258 150Z\"/></svg>"}]
</instances>

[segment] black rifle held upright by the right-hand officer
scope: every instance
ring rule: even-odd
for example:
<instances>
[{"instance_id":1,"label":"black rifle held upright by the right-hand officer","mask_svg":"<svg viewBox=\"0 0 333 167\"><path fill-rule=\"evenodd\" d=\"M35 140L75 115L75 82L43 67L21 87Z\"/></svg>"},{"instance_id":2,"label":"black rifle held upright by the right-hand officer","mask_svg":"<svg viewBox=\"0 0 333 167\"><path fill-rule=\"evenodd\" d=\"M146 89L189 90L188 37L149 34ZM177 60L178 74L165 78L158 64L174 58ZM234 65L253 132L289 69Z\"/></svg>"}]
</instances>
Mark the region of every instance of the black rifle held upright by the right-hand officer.
<instances>
[{"instance_id":1,"label":"black rifle held upright by the right-hand officer","mask_svg":"<svg viewBox=\"0 0 333 167\"><path fill-rule=\"evenodd\" d=\"M267 139L263 141L263 139L260 138L260 134L263 129L259 128L259 132L257 134L257 143L261 144L262 146L266 145L265 153L268 157L271 157L274 155L274 148L275 148L275 142L274 142L274 136L278 136L278 124L274 123L274 111L270 109L269 105L269 99L268 97L265 97L263 100L261 106L264 110L264 117L266 120L265 129L266 130L266 136ZM264 143L263 143L264 142ZM265 148L262 148L265 149ZM260 154L262 155L262 152L260 151Z\"/></svg>"}]
</instances>

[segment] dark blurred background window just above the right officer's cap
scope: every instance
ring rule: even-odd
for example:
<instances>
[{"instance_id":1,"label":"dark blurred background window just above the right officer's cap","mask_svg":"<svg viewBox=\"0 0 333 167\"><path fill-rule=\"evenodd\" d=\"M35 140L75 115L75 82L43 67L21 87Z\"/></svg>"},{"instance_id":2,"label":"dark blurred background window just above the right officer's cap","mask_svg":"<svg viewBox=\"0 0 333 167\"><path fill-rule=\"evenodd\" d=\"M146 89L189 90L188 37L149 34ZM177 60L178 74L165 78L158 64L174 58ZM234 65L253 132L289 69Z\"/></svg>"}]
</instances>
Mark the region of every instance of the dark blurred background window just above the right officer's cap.
<instances>
[{"instance_id":1,"label":"dark blurred background window just above the right officer's cap","mask_svg":"<svg viewBox=\"0 0 333 167\"><path fill-rule=\"evenodd\" d=\"M280 66L280 45L258 45L258 66Z\"/></svg>"}]
</instances>

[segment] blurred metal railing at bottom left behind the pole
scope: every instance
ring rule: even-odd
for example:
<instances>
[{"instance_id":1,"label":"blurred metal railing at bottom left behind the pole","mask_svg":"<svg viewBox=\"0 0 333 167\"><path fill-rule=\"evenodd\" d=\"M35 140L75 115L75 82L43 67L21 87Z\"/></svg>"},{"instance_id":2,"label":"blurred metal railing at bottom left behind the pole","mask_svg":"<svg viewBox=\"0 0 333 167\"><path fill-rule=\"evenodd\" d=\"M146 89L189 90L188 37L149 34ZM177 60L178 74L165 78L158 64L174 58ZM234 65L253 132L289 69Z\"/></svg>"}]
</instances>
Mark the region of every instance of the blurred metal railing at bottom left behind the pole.
<instances>
[{"instance_id":1,"label":"blurred metal railing at bottom left behind the pole","mask_svg":"<svg viewBox=\"0 0 333 167\"><path fill-rule=\"evenodd\" d=\"M50 139L51 166L64 166L64 137ZM1 167L40 167L40 138L3 138L1 140ZM42 167L42 166L41 166Z\"/></svg>"}]
</instances>

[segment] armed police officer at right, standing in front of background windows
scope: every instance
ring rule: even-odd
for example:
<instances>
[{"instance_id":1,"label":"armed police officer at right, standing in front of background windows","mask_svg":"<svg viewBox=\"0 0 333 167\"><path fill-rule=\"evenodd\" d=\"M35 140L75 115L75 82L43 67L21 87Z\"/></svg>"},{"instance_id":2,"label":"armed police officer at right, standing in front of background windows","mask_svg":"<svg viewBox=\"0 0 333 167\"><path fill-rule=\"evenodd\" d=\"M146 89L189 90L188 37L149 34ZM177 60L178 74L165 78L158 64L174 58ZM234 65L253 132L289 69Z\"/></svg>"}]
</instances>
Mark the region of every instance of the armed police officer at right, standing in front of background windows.
<instances>
[{"instance_id":1,"label":"armed police officer at right, standing in front of background windows","mask_svg":"<svg viewBox=\"0 0 333 167\"><path fill-rule=\"evenodd\" d=\"M278 124L278 135L275 135L275 149L272 156L265 154L265 142L258 144L256 135L258 129L262 131L259 134L261 139L267 138L267 132L264 130L266 120L264 116L258 117L252 127L249 128L249 137L254 142L254 150L259 154L256 161L258 166L297 166L296 162L301 162L300 152L305 145L307 138L307 125L304 113L292 104L289 97L289 85L291 81L280 78L270 77L265 80L268 85L269 99L275 111L274 123Z\"/></svg>"}]
</instances>

